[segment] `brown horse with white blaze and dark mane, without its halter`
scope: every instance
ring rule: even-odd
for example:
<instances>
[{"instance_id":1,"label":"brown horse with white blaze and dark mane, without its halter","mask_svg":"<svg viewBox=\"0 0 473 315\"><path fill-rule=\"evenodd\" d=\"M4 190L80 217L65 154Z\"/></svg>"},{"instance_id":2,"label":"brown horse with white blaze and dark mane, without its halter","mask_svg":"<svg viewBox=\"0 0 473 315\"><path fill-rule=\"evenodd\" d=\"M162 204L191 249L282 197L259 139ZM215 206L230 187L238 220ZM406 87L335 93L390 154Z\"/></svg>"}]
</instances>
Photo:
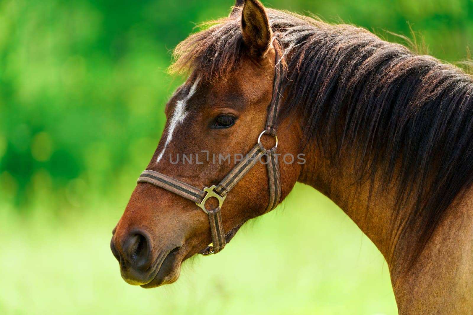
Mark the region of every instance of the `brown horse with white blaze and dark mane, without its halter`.
<instances>
[{"instance_id":1,"label":"brown horse with white blaze and dark mane, without its halter","mask_svg":"<svg viewBox=\"0 0 473 315\"><path fill-rule=\"evenodd\" d=\"M199 189L218 185L236 161L212 157L254 146L274 83L278 153L305 162L279 162L278 199L299 181L338 204L384 255L400 313L471 314L472 78L364 29L257 0L236 1L212 24L175 51L172 69L190 76L166 105L147 170ZM254 164L217 227L234 233L266 211L268 174ZM216 242L209 216L174 188L140 182L114 229L112 251L130 284L172 283L185 259ZM218 209L211 199L206 207Z\"/></svg>"}]
</instances>

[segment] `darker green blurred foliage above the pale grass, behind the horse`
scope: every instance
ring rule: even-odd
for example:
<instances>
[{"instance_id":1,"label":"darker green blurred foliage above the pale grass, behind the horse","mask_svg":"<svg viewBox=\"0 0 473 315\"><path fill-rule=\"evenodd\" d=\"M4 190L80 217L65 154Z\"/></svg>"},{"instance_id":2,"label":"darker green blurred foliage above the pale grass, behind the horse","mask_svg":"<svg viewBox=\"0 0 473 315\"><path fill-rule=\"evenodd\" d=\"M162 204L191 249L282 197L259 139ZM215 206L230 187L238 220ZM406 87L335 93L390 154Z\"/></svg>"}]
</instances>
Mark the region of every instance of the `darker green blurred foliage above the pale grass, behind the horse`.
<instances>
[{"instance_id":1,"label":"darker green blurred foliage above the pale grass, behind the horse","mask_svg":"<svg viewBox=\"0 0 473 315\"><path fill-rule=\"evenodd\" d=\"M156 148L177 81L170 50L233 0L0 1L0 200L19 211L126 202ZM470 0L272 0L385 30L421 32L443 60L466 57ZM117 199L117 196L118 199Z\"/></svg>"}]
</instances>

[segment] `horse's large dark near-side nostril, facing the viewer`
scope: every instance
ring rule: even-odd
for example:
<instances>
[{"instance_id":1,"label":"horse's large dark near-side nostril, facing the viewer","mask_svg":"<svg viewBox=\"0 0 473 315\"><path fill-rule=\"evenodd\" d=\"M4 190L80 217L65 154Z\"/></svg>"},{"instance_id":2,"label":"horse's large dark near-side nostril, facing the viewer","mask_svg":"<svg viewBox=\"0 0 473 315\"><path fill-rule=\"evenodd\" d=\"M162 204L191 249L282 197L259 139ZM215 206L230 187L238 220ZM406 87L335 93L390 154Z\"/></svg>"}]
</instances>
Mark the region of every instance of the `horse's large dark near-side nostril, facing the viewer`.
<instances>
[{"instance_id":1,"label":"horse's large dark near-side nostril, facing the viewer","mask_svg":"<svg viewBox=\"0 0 473 315\"><path fill-rule=\"evenodd\" d=\"M151 263L151 242L148 233L142 230L133 231L125 241L123 253L134 267L147 269Z\"/></svg>"}]
</instances>

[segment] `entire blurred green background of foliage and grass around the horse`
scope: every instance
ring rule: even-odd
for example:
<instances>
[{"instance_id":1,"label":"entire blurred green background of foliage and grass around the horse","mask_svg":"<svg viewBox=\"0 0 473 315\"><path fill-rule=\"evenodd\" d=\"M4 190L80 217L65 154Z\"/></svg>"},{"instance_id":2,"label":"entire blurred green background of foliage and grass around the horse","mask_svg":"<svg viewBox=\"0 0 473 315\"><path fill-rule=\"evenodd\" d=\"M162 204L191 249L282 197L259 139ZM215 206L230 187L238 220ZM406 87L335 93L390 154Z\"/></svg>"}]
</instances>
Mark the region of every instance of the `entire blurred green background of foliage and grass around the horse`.
<instances>
[{"instance_id":1,"label":"entire blurred green background of foliage and grass around the horse","mask_svg":"<svg viewBox=\"0 0 473 315\"><path fill-rule=\"evenodd\" d=\"M126 284L109 249L183 78L170 51L232 0L0 0L0 314L395 314L376 247L297 185L180 280ZM425 38L468 57L471 0L267 0L267 7ZM409 22L409 24L407 23ZM412 36L411 36L412 38ZM293 244L295 239L307 244Z\"/></svg>"}]
</instances>

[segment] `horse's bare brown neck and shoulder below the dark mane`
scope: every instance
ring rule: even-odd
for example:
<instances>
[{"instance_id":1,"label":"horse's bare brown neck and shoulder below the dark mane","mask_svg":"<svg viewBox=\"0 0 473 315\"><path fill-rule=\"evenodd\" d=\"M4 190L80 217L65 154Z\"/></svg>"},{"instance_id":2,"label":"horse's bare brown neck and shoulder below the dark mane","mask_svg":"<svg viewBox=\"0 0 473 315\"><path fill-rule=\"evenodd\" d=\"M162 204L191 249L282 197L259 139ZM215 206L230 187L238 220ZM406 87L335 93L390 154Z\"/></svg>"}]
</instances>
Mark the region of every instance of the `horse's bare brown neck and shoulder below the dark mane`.
<instances>
[{"instance_id":1,"label":"horse's bare brown neck and shoulder below the dark mane","mask_svg":"<svg viewBox=\"0 0 473 315\"><path fill-rule=\"evenodd\" d=\"M333 162L333 158L327 157L316 144L308 147L304 153L307 162L301 170L298 181L314 187L329 197L384 255L400 313L409 314L413 309L413 303L419 300L430 304L428 308L425 308L426 304L418 305L419 311L426 309L438 311L445 305L456 302L464 303L462 305L465 307L473 307L473 299L465 299L461 294L464 292L464 287L473 289L471 277L473 260L465 261L464 255L462 256L468 248L471 252L473 244L472 187L467 189L464 195L458 196L447 209L445 217L415 265L406 270L408 261L406 253L412 253L414 250L416 237L412 233L407 234L409 236L407 238L402 237L404 234L401 232L407 226L407 218L412 211L413 203L395 211L395 187L380 192L376 189L377 179L374 183L370 180L359 181L353 171L355 157L342 154L339 161ZM374 190L370 193L371 185ZM458 269L464 272L460 274L457 272ZM431 281L432 279L435 281ZM457 292L458 298L463 298L463 301L457 301L447 294L448 303L444 301L442 304L441 300L438 300L439 295L434 294L442 286L448 286L452 292Z\"/></svg>"}]
</instances>

